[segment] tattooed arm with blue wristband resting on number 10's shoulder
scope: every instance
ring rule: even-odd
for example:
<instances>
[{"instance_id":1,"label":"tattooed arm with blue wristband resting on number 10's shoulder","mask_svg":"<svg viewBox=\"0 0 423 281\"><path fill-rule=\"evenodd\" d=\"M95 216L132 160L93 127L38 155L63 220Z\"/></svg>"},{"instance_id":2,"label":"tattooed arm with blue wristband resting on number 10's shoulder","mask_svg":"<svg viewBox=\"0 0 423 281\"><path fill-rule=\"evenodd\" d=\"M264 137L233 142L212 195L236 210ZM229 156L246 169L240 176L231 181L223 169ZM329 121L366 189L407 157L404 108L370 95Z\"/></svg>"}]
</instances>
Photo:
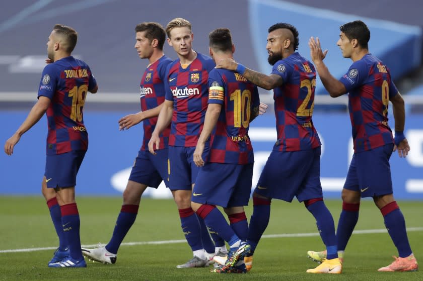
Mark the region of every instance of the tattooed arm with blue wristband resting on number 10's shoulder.
<instances>
[{"instance_id":1,"label":"tattooed arm with blue wristband resting on number 10's shoulder","mask_svg":"<svg viewBox=\"0 0 423 281\"><path fill-rule=\"evenodd\" d=\"M284 79L280 77L280 75L266 75L264 73L251 70L230 58L221 59L216 65L216 68L226 68L229 70L237 71L251 83L266 90L274 89L284 83Z\"/></svg>"}]
</instances>

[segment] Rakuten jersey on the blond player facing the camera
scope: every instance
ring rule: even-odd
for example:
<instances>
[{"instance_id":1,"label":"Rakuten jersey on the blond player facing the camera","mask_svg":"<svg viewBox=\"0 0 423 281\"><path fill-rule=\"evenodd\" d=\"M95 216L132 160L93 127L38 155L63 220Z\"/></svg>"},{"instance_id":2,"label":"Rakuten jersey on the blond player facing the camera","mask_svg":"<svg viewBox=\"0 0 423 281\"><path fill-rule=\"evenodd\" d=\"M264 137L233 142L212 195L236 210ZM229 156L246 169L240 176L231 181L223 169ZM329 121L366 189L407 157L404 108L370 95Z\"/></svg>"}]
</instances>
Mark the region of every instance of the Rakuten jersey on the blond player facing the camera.
<instances>
[{"instance_id":1,"label":"Rakuten jersey on the blond player facing the camera","mask_svg":"<svg viewBox=\"0 0 423 281\"><path fill-rule=\"evenodd\" d=\"M169 64L165 82L166 100L173 102L169 145L197 145L207 110L208 72L214 67L213 59L200 53L185 68L179 59Z\"/></svg>"}]
</instances>

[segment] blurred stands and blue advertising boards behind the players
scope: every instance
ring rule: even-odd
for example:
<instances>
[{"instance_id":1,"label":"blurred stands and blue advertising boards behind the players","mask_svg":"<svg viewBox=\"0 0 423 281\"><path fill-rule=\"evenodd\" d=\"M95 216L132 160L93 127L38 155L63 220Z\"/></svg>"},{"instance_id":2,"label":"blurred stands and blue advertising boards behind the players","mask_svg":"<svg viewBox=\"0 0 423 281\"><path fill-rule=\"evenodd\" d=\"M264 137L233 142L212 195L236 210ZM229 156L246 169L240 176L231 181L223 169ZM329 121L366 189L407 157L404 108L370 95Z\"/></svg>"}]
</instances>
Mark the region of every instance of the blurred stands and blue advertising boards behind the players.
<instances>
[{"instance_id":1,"label":"blurred stands and blue advertising boards behind the players","mask_svg":"<svg viewBox=\"0 0 423 281\"><path fill-rule=\"evenodd\" d=\"M270 73L265 50L267 29L277 22L291 23L300 33L299 52L310 58L310 36L319 37L328 49L325 59L339 78L351 60L336 46L339 26L364 21L371 30L369 50L390 69L406 101L405 135L410 154L391 157L396 199L423 200L423 66L420 0L214 0L214 1L15 1L0 10L0 140L4 142L25 120L37 100L37 88L46 58L46 43L54 24L72 26L79 33L73 55L91 67L99 92L89 95L84 121L90 144L78 174L78 195L119 195L125 188L130 167L142 144L139 124L118 130L119 118L139 111L139 81L147 60L135 52L136 24L155 21L164 27L176 17L189 20L195 51L208 54L208 33L219 27L231 30L235 58L249 68ZM176 55L165 43L165 53ZM255 151L255 185L276 140L273 98L261 90L261 100L270 107L250 129ZM322 140L321 180L325 197L340 198L353 154L347 97L332 99L320 81L316 85L314 125ZM390 113L390 126L394 122ZM21 139L14 155L0 154L1 195L40 194L45 166L47 125L42 118ZM280 163L284 165L284 163ZM147 196L167 198L164 187L149 189Z\"/></svg>"}]
</instances>

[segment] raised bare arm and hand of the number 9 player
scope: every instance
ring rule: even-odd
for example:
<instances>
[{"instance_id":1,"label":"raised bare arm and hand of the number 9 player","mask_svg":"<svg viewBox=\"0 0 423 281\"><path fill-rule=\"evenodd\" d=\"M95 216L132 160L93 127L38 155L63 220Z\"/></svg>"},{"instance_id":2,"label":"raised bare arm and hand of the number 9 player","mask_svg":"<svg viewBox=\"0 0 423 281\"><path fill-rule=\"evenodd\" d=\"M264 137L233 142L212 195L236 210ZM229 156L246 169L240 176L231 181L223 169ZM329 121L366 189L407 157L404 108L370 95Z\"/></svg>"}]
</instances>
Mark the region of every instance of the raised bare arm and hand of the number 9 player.
<instances>
[{"instance_id":1,"label":"raised bare arm and hand of the number 9 player","mask_svg":"<svg viewBox=\"0 0 423 281\"><path fill-rule=\"evenodd\" d=\"M342 96L347 92L345 85L338 81L332 74L330 74L329 69L323 62L323 59L326 57L327 50L324 52L320 46L320 40L317 37L314 40L313 37L309 40L310 47L310 57L313 60L314 66L316 67L317 73L319 73L320 80L322 80L323 85L326 90L329 92L329 95L332 98L337 98Z\"/></svg>"}]
</instances>

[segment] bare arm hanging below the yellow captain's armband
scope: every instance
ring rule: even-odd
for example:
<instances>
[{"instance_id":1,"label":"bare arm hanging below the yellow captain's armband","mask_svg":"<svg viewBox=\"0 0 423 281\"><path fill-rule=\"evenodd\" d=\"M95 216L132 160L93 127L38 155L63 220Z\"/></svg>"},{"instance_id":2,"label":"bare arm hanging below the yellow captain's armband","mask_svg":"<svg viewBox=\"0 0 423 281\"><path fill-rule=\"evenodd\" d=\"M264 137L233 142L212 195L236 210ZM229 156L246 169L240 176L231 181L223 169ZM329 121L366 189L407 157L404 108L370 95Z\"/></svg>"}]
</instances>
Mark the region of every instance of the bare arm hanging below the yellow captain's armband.
<instances>
[{"instance_id":1,"label":"bare arm hanging below the yellow captain's armband","mask_svg":"<svg viewBox=\"0 0 423 281\"><path fill-rule=\"evenodd\" d=\"M204 151L205 142L212 134L213 129L218 123L219 115L222 111L221 104L208 104L207 111L205 112L204 125L200 136L198 137L197 146L194 151L194 163L197 166L203 166L204 160L201 155Z\"/></svg>"}]
</instances>

